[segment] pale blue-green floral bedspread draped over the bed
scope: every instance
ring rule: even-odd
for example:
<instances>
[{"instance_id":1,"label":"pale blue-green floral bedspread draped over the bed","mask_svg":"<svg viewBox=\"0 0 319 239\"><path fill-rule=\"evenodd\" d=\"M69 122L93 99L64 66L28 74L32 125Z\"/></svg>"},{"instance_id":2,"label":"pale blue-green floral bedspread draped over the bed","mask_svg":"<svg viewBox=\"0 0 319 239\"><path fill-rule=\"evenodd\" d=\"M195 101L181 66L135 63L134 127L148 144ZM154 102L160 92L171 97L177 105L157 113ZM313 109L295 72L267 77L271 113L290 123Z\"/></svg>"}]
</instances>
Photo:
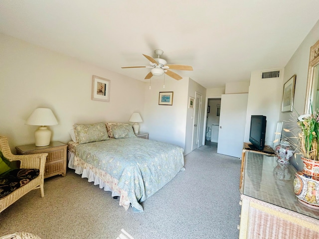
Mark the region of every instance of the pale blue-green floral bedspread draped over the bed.
<instances>
[{"instance_id":1,"label":"pale blue-green floral bedspread draped over the bed","mask_svg":"<svg viewBox=\"0 0 319 239\"><path fill-rule=\"evenodd\" d=\"M183 169L183 149L139 137L79 144L76 156L116 178L134 211Z\"/></svg>"}]
</instances>

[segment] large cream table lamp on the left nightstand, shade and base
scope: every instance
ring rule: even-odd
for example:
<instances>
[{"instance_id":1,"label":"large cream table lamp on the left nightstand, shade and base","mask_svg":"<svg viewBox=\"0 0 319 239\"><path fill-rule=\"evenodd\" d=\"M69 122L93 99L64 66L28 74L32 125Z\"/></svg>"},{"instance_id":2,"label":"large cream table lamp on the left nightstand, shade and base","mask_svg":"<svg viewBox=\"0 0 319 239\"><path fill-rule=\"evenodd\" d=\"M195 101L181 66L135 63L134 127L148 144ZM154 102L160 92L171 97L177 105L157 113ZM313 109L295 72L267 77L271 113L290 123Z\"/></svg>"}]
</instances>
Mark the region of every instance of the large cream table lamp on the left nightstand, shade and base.
<instances>
[{"instance_id":1,"label":"large cream table lamp on the left nightstand, shade and base","mask_svg":"<svg viewBox=\"0 0 319 239\"><path fill-rule=\"evenodd\" d=\"M50 144L51 138L51 131L46 126L56 125L58 121L50 109L36 108L26 120L25 124L40 126L34 132L35 146L46 146Z\"/></svg>"}]
</instances>

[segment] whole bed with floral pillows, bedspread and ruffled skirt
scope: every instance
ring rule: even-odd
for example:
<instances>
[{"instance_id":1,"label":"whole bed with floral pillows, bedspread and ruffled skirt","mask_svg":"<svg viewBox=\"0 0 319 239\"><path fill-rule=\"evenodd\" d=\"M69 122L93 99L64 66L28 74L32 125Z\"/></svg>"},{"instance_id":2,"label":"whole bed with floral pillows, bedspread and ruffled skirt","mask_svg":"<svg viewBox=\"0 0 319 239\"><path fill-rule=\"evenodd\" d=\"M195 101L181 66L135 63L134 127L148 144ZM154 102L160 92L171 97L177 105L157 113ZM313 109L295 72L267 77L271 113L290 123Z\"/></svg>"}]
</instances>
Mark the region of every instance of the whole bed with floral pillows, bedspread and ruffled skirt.
<instances>
[{"instance_id":1,"label":"whole bed with floral pillows, bedspread and ruffled skirt","mask_svg":"<svg viewBox=\"0 0 319 239\"><path fill-rule=\"evenodd\" d=\"M125 210L143 212L141 203L184 170L183 148L139 138L127 123L74 124L69 132L68 167L120 196Z\"/></svg>"}]
</instances>

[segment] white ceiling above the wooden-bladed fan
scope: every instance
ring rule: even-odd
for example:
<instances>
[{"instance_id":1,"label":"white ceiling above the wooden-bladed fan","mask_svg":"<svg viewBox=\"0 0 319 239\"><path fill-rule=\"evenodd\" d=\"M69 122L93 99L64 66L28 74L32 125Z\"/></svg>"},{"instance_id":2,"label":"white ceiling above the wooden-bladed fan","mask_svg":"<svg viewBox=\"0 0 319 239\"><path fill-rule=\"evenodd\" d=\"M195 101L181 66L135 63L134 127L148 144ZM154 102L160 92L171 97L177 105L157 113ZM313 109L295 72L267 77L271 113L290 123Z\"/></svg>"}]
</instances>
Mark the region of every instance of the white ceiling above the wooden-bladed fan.
<instances>
[{"instance_id":1,"label":"white ceiling above the wooden-bladed fan","mask_svg":"<svg viewBox=\"0 0 319 239\"><path fill-rule=\"evenodd\" d=\"M162 49L206 88L285 67L318 19L319 0L0 1L2 33L138 80L150 68L121 66Z\"/></svg>"}]
</instances>

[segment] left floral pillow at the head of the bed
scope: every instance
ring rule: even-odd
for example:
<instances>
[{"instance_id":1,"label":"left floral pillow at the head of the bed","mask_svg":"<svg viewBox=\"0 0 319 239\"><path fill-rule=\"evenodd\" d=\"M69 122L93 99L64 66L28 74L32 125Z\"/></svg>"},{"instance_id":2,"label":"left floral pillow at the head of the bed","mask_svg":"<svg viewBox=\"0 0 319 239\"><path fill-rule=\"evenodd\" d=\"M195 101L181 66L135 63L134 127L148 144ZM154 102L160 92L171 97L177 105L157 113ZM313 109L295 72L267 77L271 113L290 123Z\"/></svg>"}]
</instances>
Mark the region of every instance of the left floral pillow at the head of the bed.
<instances>
[{"instance_id":1,"label":"left floral pillow at the head of the bed","mask_svg":"<svg viewBox=\"0 0 319 239\"><path fill-rule=\"evenodd\" d=\"M73 129L76 142L78 143L90 143L110 139L105 123L74 124Z\"/></svg>"}]
</instances>

